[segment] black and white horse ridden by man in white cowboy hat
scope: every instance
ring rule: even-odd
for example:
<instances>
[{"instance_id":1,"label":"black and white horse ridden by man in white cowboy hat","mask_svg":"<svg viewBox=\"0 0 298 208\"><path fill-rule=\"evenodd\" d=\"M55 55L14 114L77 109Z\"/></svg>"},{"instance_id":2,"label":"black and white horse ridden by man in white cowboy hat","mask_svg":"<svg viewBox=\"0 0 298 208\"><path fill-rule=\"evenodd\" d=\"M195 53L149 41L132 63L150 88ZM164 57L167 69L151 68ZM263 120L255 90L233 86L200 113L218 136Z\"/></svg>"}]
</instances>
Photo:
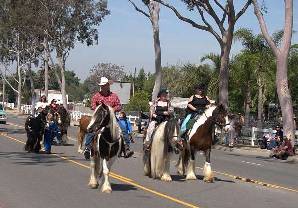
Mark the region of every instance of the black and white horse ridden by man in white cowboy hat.
<instances>
[{"instance_id":1,"label":"black and white horse ridden by man in white cowboy hat","mask_svg":"<svg viewBox=\"0 0 298 208\"><path fill-rule=\"evenodd\" d=\"M108 180L111 166L115 162L121 147L121 137L113 108L105 104L97 104L88 130L94 133L91 151L90 187L98 187L103 193L111 193L112 188ZM97 181L99 179L99 181Z\"/></svg>"}]
</instances>

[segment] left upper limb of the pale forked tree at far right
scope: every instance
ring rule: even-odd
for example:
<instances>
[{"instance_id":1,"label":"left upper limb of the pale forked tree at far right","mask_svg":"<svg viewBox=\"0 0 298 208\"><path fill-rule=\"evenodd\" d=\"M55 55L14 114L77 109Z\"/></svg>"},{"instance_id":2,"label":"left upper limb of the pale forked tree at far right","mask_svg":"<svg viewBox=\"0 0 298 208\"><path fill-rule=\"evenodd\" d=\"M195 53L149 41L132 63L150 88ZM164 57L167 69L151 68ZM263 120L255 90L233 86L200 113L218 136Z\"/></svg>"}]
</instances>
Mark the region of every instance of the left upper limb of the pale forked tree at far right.
<instances>
[{"instance_id":1,"label":"left upper limb of the pale forked tree at far right","mask_svg":"<svg viewBox=\"0 0 298 208\"><path fill-rule=\"evenodd\" d=\"M260 8L259 8L259 5L258 5L258 2L257 2L257 0L252 0L252 2L253 2L253 5L254 5L254 11L255 11L254 13L257 16L258 20L259 20L260 28L261 28L261 31L264 35L264 38L266 39L269 47L271 48L271 50L273 51L275 56L278 57L280 51L278 50L278 48L276 47L276 45L274 44L274 42L270 38L270 35L269 35L268 30L266 28L266 23L264 21L263 15L262 15L262 13L260 11Z\"/></svg>"}]
</instances>

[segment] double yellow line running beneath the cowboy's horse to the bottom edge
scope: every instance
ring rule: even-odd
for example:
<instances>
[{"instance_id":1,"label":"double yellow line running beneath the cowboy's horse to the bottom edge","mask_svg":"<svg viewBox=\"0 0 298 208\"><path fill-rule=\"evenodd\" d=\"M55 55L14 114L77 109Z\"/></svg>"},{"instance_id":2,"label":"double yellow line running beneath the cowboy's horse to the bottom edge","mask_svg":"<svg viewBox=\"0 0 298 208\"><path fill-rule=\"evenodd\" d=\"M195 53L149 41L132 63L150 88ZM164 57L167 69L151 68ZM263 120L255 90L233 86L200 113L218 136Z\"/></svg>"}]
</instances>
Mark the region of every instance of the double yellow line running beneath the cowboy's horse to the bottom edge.
<instances>
[{"instance_id":1,"label":"double yellow line running beneath the cowboy's horse to the bottom edge","mask_svg":"<svg viewBox=\"0 0 298 208\"><path fill-rule=\"evenodd\" d=\"M13 138L13 137L11 137L11 136L8 136L8 135L5 134L5 133L0 133L0 135L4 136L4 137L6 137L6 138L12 139L12 140L14 140L14 141L17 141L17 142L19 142L19 143L26 144L25 142L23 142L23 141L21 141L21 140L19 140L19 139ZM42 148L42 150L45 151L43 148ZM59 154L51 154L51 155L56 156L56 157L59 157L59 158L64 159L64 160L67 160L67 161L69 161L69 162L71 162L71 163L74 163L74 164L76 164L76 165L79 165L79 166L82 166L82 167L85 167L85 168L90 169L90 167L87 166L87 165L84 165L84 164L82 164L82 163L76 162L76 161L71 160L71 159L69 159L69 158L67 158L67 157L60 156ZM121 176L121 175L118 175L118 174L115 174L115 173L110 173L109 176L112 177L112 178L115 178L115 179L117 179L117 180L119 180L119 181L122 181L122 182L125 182L125 183L127 183L127 184L130 184L130 185L132 185L132 186L135 186L135 187L138 187L138 188L140 188L140 189L143 189L143 190L145 190L145 191L148 191L148 192L150 192L150 193L153 193L153 194L155 194L155 195L158 195L158 196L164 197L164 198L166 198L166 199L172 200L172 201L174 201L174 202L177 202L177 203L179 203L179 204L185 205L185 206L187 206L187 207L191 207L191 208L200 208L200 207L198 207L198 206L195 206L195 205L189 204L189 203L187 203L187 202L184 202L184 201L178 200L178 199L176 199L176 198L173 198L173 197L171 197L171 196L169 196L169 195L162 194L162 193L160 193L160 192L154 191L154 190L149 189L149 188L147 188L147 187L144 187L144 186L142 186L142 185L140 185L140 184L136 184L136 183L132 182L131 179L128 179L128 178L126 178L126 177L124 177L124 176Z\"/></svg>"}]
</instances>

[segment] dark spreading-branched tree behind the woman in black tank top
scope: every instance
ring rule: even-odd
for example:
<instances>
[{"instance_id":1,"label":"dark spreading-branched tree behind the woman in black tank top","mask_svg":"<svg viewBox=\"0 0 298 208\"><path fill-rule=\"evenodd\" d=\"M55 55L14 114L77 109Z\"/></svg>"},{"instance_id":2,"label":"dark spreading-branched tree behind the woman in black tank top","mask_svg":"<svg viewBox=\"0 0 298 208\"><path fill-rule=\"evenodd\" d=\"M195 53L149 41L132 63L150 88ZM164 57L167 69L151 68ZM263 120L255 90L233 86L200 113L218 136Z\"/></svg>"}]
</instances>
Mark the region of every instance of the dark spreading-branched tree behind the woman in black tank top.
<instances>
[{"instance_id":1,"label":"dark spreading-branched tree behind the woman in black tank top","mask_svg":"<svg viewBox=\"0 0 298 208\"><path fill-rule=\"evenodd\" d=\"M234 27L238 19L251 4L251 0L245 0L244 2L246 3L238 13L235 11L233 0L227 0L225 6L221 5L218 0L213 0L214 4L211 4L210 0L181 0L187 5L188 10L193 11L196 9L199 12L204 25L200 25L193 20L182 16L174 6L164 2L163 0L151 1L159 2L160 4L170 8L180 20L191 24L197 29L208 31L216 38L221 48L219 100L220 104L228 106L228 62L233 42ZM221 17L216 14L216 11L214 10L215 7L218 7L223 12ZM211 26L208 19L205 18L205 13L207 13L215 21L220 34ZM227 28L225 28L226 25L228 26Z\"/></svg>"}]
</instances>

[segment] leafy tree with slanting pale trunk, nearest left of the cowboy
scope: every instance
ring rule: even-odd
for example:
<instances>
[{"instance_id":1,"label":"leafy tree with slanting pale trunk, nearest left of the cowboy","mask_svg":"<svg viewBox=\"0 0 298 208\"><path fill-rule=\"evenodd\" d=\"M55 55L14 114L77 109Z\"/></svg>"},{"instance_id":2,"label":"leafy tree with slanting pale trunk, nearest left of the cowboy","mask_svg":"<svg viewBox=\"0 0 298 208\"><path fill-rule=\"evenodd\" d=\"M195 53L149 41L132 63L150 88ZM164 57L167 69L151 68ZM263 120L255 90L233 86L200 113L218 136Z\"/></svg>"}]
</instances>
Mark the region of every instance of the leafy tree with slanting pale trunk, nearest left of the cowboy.
<instances>
[{"instance_id":1,"label":"leafy tree with slanting pale trunk, nearest left of the cowboy","mask_svg":"<svg viewBox=\"0 0 298 208\"><path fill-rule=\"evenodd\" d=\"M36 33L41 33L45 41L41 42L49 57L49 66L58 81L63 106L67 107L65 64L75 43L87 46L98 44L98 26L110 13L107 0L35 0L38 11L33 11L37 20L33 25ZM56 52L60 75L55 70L52 51ZM45 61L47 56L43 56ZM60 78L61 77L61 78Z\"/></svg>"}]
</instances>

